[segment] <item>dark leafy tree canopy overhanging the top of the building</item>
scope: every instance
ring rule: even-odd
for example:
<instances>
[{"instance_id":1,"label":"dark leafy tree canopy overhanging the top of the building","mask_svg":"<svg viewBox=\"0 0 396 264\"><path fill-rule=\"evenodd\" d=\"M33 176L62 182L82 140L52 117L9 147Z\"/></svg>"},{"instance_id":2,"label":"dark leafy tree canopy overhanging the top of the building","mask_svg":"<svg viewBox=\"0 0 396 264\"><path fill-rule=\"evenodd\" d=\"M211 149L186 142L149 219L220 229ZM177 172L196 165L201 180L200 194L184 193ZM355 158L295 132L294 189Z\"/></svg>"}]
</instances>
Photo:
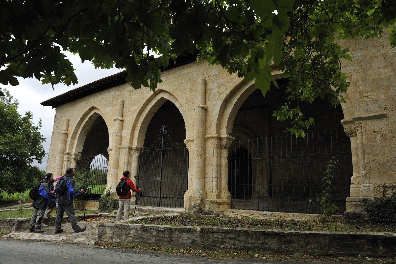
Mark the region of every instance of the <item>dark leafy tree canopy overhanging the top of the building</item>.
<instances>
[{"instance_id":1,"label":"dark leafy tree canopy overhanging the top of the building","mask_svg":"<svg viewBox=\"0 0 396 264\"><path fill-rule=\"evenodd\" d=\"M0 0L0 82L77 82L62 50L95 67L126 69L135 89L155 90L160 69L178 55L197 54L265 94L271 65L289 78L290 100L321 97L333 105L348 87L336 38L371 38L390 31L396 45L394 0ZM160 55L154 58L154 54ZM293 128L308 127L299 107L276 113Z\"/></svg>"}]
</instances>

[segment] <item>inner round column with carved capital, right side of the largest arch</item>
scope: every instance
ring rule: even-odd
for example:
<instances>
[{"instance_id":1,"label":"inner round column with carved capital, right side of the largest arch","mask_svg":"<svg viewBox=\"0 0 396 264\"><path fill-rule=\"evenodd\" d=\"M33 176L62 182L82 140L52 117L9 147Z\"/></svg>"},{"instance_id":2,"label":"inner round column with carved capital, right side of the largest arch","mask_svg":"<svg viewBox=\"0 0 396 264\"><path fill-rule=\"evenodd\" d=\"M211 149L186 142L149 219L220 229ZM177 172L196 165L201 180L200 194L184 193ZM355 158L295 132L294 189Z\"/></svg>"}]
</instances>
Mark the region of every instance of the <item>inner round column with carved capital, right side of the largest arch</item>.
<instances>
[{"instance_id":1,"label":"inner round column with carved capital, right side of the largest arch","mask_svg":"<svg viewBox=\"0 0 396 264\"><path fill-rule=\"evenodd\" d=\"M359 149L356 137L356 124L352 119L343 119L341 120L341 123L344 126L345 134L350 138L350 146L352 151L353 175L350 179L350 196L359 197L362 182L360 180Z\"/></svg>"}]
</instances>

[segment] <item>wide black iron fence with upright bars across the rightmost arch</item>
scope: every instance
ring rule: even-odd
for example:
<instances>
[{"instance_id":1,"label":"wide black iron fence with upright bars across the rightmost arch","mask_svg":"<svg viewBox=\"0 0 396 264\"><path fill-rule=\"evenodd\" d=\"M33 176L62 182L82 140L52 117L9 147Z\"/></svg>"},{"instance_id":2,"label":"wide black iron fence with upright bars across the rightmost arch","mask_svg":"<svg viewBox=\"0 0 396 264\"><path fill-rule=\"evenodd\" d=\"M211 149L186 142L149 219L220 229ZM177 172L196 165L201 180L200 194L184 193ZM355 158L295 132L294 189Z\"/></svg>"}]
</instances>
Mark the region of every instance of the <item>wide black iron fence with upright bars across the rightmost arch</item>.
<instances>
[{"instance_id":1,"label":"wide black iron fence with upright bars across the rightmost arch","mask_svg":"<svg viewBox=\"0 0 396 264\"><path fill-rule=\"evenodd\" d=\"M334 155L338 161L331 201L343 214L352 176L350 140L345 134L335 130L310 132L305 138L286 134L234 141L228 159L232 208L319 213L322 178Z\"/></svg>"}]
</instances>

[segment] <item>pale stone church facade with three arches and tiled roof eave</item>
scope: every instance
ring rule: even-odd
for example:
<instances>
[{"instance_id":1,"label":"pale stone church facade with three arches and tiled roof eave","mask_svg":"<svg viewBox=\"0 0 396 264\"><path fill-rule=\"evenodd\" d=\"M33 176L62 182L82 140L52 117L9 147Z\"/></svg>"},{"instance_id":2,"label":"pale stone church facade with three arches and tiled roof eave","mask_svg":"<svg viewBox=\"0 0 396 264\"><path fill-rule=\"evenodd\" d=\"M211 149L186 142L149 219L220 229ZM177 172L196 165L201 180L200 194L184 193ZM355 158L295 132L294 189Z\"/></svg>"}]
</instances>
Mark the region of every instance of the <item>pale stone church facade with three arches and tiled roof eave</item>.
<instances>
[{"instance_id":1,"label":"pale stone church facade with three arches and tiled roof eave","mask_svg":"<svg viewBox=\"0 0 396 264\"><path fill-rule=\"evenodd\" d=\"M305 139L272 117L285 99L278 69L280 88L263 97L254 80L182 58L155 92L118 73L43 102L56 108L47 171L88 168L84 157L102 155L102 185L114 190L129 170L146 205L316 213L308 200L320 198L334 161L334 202L346 219L364 219L367 199L396 183L396 49L387 36L342 45L353 56L343 61L346 103L301 105L315 119Z\"/></svg>"}]
</instances>

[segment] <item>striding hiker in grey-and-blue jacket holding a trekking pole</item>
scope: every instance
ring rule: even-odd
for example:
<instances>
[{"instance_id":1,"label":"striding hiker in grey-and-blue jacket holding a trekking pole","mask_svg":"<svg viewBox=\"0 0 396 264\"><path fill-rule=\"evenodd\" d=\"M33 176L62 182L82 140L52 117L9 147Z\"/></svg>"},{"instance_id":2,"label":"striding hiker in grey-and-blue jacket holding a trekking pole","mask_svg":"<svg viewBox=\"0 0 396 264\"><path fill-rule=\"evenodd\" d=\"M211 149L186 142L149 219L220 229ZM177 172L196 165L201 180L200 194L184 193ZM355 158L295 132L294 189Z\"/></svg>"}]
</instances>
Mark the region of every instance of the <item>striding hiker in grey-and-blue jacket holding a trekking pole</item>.
<instances>
[{"instance_id":1,"label":"striding hiker in grey-and-blue jacket holding a trekking pole","mask_svg":"<svg viewBox=\"0 0 396 264\"><path fill-rule=\"evenodd\" d=\"M55 199L55 202L58 203L58 211L55 218L55 234L63 232L63 229L61 229L63 212L66 212L67 216L69 217L70 224L72 225L74 233L80 233L85 231L85 229L81 229L80 226L77 224L76 214L74 213L73 195L80 195L81 193L84 193L84 189L75 189L73 180L74 174L74 168L68 168L66 170L66 173L63 176L66 180L66 191L64 193L59 193Z\"/></svg>"}]
</instances>

